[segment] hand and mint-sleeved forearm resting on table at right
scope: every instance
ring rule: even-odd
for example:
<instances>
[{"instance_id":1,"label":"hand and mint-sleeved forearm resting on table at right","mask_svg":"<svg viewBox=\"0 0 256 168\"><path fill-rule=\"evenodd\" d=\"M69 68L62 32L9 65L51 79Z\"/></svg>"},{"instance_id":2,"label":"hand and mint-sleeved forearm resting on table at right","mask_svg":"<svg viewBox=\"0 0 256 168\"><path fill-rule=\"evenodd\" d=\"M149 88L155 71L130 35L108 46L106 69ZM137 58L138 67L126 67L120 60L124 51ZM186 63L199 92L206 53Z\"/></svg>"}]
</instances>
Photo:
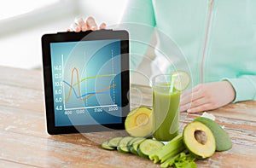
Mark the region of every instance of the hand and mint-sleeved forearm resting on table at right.
<instances>
[{"instance_id":1,"label":"hand and mint-sleeved forearm resting on table at right","mask_svg":"<svg viewBox=\"0 0 256 168\"><path fill-rule=\"evenodd\" d=\"M224 78L224 81L199 84L181 96L180 111L197 113L223 107L230 102L256 100L256 76Z\"/></svg>"}]
</instances>

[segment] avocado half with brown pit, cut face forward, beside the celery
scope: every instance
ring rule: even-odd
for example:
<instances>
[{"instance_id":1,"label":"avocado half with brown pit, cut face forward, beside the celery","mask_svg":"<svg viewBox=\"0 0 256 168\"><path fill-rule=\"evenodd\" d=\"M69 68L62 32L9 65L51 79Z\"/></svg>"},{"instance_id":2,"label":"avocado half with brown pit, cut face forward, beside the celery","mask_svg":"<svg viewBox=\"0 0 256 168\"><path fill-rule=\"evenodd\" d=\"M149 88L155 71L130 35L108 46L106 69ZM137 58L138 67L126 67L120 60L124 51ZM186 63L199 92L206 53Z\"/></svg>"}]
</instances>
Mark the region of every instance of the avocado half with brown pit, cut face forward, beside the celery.
<instances>
[{"instance_id":1,"label":"avocado half with brown pit, cut face forward, beside the celery","mask_svg":"<svg viewBox=\"0 0 256 168\"><path fill-rule=\"evenodd\" d=\"M198 121L185 126L183 142L189 152L194 154L197 159L209 158L216 150L216 142L212 130Z\"/></svg>"}]
</instances>

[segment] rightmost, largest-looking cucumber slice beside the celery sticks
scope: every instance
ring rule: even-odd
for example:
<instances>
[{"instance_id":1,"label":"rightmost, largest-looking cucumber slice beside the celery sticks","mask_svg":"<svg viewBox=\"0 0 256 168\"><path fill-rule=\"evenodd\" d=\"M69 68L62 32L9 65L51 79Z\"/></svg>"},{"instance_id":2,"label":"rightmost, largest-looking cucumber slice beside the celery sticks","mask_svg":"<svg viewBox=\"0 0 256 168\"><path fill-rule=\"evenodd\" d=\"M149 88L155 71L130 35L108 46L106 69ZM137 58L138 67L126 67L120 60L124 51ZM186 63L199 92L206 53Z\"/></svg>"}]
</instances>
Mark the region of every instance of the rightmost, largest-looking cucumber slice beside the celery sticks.
<instances>
[{"instance_id":1,"label":"rightmost, largest-looking cucumber slice beside the celery sticks","mask_svg":"<svg viewBox=\"0 0 256 168\"><path fill-rule=\"evenodd\" d=\"M155 151L162 148L164 144L162 142L152 140L152 139L146 139L145 141L141 142L137 153L143 157L148 159L148 155L153 154Z\"/></svg>"}]
</instances>

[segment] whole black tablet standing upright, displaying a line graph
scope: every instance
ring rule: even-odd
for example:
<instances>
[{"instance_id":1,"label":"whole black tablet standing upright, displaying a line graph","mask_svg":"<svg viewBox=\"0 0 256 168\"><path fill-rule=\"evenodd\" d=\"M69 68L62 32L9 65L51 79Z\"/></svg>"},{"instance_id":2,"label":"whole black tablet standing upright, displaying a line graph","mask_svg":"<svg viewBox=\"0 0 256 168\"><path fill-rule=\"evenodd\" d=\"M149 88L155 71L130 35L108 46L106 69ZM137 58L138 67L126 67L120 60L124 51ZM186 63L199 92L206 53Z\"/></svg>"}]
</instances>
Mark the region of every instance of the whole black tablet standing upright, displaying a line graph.
<instances>
[{"instance_id":1,"label":"whole black tablet standing upright, displaying a line graph","mask_svg":"<svg viewBox=\"0 0 256 168\"><path fill-rule=\"evenodd\" d=\"M125 129L130 111L128 39L122 30L42 37L49 134Z\"/></svg>"}]
</instances>

